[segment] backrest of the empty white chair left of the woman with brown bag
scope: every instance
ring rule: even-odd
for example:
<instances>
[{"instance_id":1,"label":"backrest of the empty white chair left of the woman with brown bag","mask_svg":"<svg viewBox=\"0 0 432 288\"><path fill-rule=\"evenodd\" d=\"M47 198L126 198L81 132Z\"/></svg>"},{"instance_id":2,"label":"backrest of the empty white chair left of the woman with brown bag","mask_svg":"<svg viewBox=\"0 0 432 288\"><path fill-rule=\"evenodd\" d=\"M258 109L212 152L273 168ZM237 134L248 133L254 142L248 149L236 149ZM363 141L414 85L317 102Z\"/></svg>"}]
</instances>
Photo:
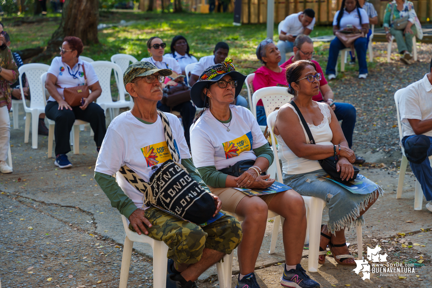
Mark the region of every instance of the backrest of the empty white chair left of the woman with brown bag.
<instances>
[{"instance_id":1,"label":"backrest of the empty white chair left of the woman with brown bag","mask_svg":"<svg viewBox=\"0 0 432 288\"><path fill-rule=\"evenodd\" d=\"M48 71L50 68L47 64L41 63L29 63L24 64L18 68L19 72L19 85L21 86L21 96L22 104L24 108L27 108L25 104L24 91L22 89L22 77L21 75L25 73L27 82L29 82L30 93L32 93L32 98L30 99L30 108L44 108L45 99L43 86L41 85L41 75Z\"/></svg>"}]
</instances>

